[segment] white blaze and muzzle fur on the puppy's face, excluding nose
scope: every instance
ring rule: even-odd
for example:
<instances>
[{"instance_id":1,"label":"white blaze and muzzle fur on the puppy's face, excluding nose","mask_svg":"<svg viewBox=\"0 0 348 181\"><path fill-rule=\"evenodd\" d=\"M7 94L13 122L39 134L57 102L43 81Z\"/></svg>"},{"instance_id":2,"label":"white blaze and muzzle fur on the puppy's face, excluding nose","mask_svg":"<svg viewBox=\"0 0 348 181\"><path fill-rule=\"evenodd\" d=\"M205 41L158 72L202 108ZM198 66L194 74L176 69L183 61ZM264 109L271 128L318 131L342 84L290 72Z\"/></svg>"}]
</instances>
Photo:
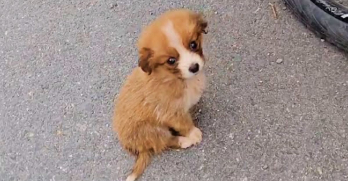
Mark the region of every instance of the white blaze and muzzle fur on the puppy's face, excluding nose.
<instances>
[{"instance_id":1,"label":"white blaze and muzzle fur on the puppy's face, excluding nose","mask_svg":"<svg viewBox=\"0 0 348 181\"><path fill-rule=\"evenodd\" d=\"M169 21L166 26L162 28L162 31L168 38L169 46L175 48L179 53L178 68L181 71L182 77L188 79L193 77L194 75L197 75L203 69L203 59L197 53L191 52L185 48L182 43L182 38L175 31L173 23L171 21ZM195 73L190 72L190 66L196 63L199 65L199 71Z\"/></svg>"}]
</instances>

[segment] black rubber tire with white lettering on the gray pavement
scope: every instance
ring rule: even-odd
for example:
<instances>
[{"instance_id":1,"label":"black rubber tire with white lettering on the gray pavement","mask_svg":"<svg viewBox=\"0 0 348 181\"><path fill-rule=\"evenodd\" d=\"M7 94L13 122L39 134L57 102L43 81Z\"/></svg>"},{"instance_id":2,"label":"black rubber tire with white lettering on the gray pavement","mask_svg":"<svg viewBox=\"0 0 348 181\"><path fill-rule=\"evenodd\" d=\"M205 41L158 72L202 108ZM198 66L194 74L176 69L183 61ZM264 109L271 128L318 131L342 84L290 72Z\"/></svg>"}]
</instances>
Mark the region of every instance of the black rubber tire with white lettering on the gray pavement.
<instances>
[{"instance_id":1,"label":"black rubber tire with white lettering on the gray pavement","mask_svg":"<svg viewBox=\"0 0 348 181\"><path fill-rule=\"evenodd\" d=\"M348 52L348 9L334 0L284 0L294 15L320 38Z\"/></svg>"}]
</instances>

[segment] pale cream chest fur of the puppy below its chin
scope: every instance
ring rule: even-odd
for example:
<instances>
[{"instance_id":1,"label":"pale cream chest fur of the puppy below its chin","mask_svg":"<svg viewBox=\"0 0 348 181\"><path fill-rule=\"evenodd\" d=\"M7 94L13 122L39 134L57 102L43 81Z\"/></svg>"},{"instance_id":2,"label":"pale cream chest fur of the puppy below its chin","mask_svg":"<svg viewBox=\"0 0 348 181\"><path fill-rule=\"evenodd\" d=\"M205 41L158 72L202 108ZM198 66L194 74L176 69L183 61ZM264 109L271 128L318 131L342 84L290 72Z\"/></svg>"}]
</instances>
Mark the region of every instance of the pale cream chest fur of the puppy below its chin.
<instances>
[{"instance_id":1,"label":"pale cream chest fur of the puppy below its chin","mask_svg":"<svg viewBox=\"0 0 348 181\"><path fill-rule=\"evenodd\" d=\"M193 105L197 104L205 89L205 74L200 72L198 75L186 80L186 88L183 96L183 106L188 111Z\"/></svg>"}]
</instances>

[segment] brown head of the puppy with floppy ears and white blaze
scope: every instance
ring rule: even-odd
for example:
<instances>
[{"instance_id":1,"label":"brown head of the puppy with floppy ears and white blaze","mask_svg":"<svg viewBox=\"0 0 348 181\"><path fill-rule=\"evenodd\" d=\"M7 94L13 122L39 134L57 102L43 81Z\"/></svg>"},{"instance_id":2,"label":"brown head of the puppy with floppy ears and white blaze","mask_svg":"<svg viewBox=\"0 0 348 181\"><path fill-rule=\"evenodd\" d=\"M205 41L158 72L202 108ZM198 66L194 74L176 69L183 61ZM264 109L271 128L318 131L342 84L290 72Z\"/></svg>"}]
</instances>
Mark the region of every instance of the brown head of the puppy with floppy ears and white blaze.
<instances>
[{"instance_id":1,"label":"brown head of the puppy with floppy ears and white blaze","mask_svg":"<svg viewBox=\"0 0 348 181\"><path fill-rule=\"evenodd\" d=\"M202 34L207 22L189 10L172 10L161 15L142 32L139 66L149 75L189 79L204 67Z\"/></svg>"}]
</instances>

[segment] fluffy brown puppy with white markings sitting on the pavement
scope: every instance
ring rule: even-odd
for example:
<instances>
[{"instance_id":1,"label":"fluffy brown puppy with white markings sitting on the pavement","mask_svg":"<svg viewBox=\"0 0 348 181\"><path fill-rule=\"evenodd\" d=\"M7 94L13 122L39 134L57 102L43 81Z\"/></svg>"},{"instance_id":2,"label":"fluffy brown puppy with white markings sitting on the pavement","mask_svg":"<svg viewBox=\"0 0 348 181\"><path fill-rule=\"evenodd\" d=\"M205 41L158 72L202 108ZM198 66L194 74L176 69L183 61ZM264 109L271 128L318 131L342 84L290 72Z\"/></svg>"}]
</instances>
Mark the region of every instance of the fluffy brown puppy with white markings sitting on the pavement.
<instances>
[{"instance_id":1,"label":"fluffy brown puppy with white markings sitting on the pavement","mask_svg":"<svg viewBox=\"0 0 348 181\"><path fill-rule=\"evenodd\" d=\"M136 156L127 181L143 173L152 154L200 143L189 109L205 87L202 33L207 22L192 11L164 13L142 32L139 67L120 90L113 129Z\"/></svg>"}]
</instances>

